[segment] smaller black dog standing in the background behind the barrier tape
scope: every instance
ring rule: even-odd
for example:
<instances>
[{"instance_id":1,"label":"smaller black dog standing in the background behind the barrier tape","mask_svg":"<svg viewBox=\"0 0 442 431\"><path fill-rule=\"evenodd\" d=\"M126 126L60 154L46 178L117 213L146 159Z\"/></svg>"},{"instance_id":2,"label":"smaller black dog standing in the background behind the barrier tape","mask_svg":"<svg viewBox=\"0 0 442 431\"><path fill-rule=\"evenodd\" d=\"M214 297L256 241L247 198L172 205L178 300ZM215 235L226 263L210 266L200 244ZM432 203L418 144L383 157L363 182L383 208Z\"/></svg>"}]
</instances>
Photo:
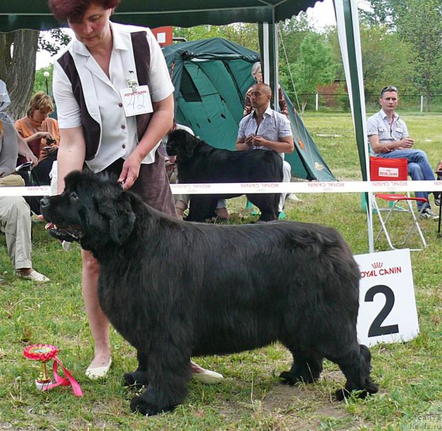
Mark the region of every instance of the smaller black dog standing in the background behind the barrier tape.
<instances>
[{"instance_id":1,"label":"smaller black dog standing in the background behind the barrier tape","mask_svg":"<svg viewBox=\"0 0 442 431\"><path fill-rule=\"evenodd\" d=\"M282 158L276 151L215 149L184 130L169 134L166 149L177 156L180 184L282 181ZM218 200L236 196L240 194L191 195L186 220L204 222L215 215ZM250 193L247 199L260 209L260 220L278 220L280 193Z\"/></svg>"}]
</instances>

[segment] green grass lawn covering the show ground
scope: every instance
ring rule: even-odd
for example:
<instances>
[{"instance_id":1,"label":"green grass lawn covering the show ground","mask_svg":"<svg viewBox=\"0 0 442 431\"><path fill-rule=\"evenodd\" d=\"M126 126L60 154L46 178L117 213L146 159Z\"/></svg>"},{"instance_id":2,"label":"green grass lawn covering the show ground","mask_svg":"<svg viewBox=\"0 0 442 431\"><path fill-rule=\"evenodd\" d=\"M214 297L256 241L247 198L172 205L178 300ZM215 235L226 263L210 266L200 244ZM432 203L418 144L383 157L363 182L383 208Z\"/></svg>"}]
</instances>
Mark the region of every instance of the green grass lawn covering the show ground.
<instances>
[{"instance_id":1,"label":"green grass lawn covering the show ground","mask_svg":"<svg viewBox=\"0 0 442 431\"><path fill-rule=\"evenodd\" d=\"M425 150L436 166L442 158L442 115L403 118L416 148ZM304 120L336 177L360 180L350 115L314 113ZM290 220L335 227L355 254L367 252L366 218L358 193L298 197L302 202L287 204ZM229 209L240 213L244 204L244 198L237 198L229 202ZM35 222L33 265L51 282L32 285L15 278L5 238L0 236L0 430L441 430L442 239L436 236L436 222L424 220L421 227L428 247L412 253L421 334L408 343L372 347L378 394L367 401L334 401L332 393L344 378L327 361L318 383L281 385L278 375L289 369L290 355L276 344L231 356L197 358L202 366L224 374L224 382L213 386L191 382L183 405L154 417L134 415L129 409L134 393L121 383L122 374L136 367L135 351L115 331L109 378L90 382L84 377L93 345L81 300L78 245L63 251L44 232L43 224ZM84 397L77 399L66 387L37 392L34 379L39 367L22 356L29 343L59 347L59 358L81 383Z\"/></svg>"}]
</instances>

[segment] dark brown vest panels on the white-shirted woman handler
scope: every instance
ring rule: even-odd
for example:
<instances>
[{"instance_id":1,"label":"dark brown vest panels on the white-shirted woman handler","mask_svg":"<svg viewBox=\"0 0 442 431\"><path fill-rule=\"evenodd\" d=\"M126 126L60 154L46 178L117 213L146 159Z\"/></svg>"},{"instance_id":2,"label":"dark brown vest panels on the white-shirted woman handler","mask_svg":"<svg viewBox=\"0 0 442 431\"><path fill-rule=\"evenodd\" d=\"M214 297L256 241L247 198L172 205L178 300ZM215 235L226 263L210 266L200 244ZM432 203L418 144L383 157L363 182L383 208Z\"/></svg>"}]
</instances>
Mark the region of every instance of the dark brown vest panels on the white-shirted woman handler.
<instances>
[{"instance_id":1,"label":"dark brown vest panels on the white-shirted woman handler","mask_svg":"<svg viewBox=\"0 0 442 431\"><path fill-rule=\"evenodd\" d=\"M131 39L135 68L137 69L138 85L149 86L151 51L149 50L148 41L146 39L146 32L132 32ZM72 55L70 55L69 51L66 51L57 61L68 77L72 86L73 95L80 107L81 123L83 124L84 140L86 142L85 160L92 160L95 157L99 146L100 126L88 113L88 108L86 107L86 102L84 100L83 87L81 86L81 81ZM151 113L148 113L135 116L138 142L140 142L146 131L148 123L151 120L151 115Z\"/></svg>"}]
</instances>

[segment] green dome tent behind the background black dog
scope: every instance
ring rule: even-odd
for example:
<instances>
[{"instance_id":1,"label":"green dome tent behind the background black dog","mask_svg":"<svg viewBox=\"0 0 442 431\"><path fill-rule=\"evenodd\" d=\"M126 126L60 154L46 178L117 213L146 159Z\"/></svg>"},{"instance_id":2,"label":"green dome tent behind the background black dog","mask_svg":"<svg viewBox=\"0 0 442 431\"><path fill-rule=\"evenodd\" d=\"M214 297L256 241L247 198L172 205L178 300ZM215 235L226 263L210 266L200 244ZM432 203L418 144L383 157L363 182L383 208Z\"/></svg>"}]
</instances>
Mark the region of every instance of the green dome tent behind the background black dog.
<instances>
[{"instance_id":1,"label":"green dome tent behind the background black dog","mask_svg":"<svg viewBox=\"0 0 442 431\"><path fill-rule=\"evenodd\" d=\"M195 135L222 149L235 149L244 95L253 84L251 67L260 55L221 38L163 48L175 86L175 119ZM306 180L334 181L314 140L287 97L295 151L286 154L291 175Z\"/></svg>"}]
</instances>

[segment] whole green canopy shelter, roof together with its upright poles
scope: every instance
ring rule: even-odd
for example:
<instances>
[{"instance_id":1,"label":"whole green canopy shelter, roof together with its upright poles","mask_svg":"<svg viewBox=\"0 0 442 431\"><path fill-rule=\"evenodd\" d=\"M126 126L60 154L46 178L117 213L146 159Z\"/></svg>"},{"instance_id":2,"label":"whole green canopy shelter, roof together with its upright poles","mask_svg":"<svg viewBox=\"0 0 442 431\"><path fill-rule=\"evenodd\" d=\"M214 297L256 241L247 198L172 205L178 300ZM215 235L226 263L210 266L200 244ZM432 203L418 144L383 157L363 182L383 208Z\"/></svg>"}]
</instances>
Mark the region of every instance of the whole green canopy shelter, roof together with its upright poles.
<instances>
[{"instance_id":1,"label":"whole green canopy shelter, roof together with its upright poles","mask_svg":"<svg viewBox=\"0 0 442 431\"><path fill-rule=\"evenodd\" d=\"M264 81L278 89L278 22L290 19L318 0L166 0L122 1L113 19L144 26L198 26L234 22L260 23L260 51ZM365 99L357 0L334 0L340 49L358 146L363 180L369 180L365 130ZM46 0L0 1L0 32L19 28L48 30L58 27ZM369 250L373 251L372 213L367 206Z\"/></svg>"}]
</instances>

